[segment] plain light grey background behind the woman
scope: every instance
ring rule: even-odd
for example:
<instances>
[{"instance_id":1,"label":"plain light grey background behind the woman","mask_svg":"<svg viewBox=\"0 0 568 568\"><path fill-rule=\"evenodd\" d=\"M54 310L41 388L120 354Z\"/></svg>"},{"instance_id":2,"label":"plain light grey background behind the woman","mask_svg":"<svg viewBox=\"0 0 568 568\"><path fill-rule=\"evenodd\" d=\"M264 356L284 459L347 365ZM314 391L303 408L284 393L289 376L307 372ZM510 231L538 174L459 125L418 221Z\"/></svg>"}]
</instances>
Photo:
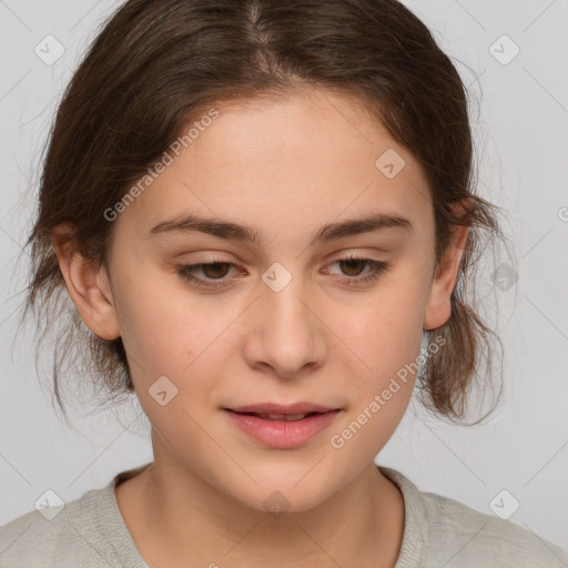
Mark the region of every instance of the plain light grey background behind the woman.
<instances>
[{"instance_id":1,"label":"plain light grey background behind the woman","mask_svg":"<svg viewBox=\"0 0 568 568\"><path fill-rule=\"evenodd\" d=\"M506 489L497 503L510 510L518 501L511 521L568 549L568 2L405 3L470 85L479 191L508 211L514 251L505 262L518 282L500 290L490 263L480 273L506 353L494 418L456 427L416 407L377 462L488 514ZM39 152L95 27L116 6L0 1L0 524L31 510L47 489L71 500L152 458L135 400L120 408L120 420L84 408L70 430L39 386L32 334L13 341L28 258L17 260L31 229ZM64 47L53 64L34 52L49 34ZM504 64L515 44L520 52Z\"/></svg>"}]
</instances>

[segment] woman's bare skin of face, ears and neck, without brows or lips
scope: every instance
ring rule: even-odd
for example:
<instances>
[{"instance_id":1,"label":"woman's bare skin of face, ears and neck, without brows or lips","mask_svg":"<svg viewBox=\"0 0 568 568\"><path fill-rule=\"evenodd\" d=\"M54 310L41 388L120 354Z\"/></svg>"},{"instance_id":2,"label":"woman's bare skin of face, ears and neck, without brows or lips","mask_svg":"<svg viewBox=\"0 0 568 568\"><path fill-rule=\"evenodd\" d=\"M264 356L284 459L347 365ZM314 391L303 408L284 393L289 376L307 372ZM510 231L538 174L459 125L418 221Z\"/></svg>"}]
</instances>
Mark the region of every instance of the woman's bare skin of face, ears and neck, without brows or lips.
<instances>
[{"instance_id":1,"label":"woman's bare skin of face, ears and neck, without brows or lips","mask_svg":"<svg viewBox=\"0 0 568 568\"><path fill-rule=\"evenodd\" d=\"M65 241L65 227L53 235L84 323L100 337L122 336L152 424L154 463L116 487L119 508L150 566L392 567L404 500L374 458L415 377L342 448L329 437L416 359L423 329L448 320L467 229L456 229L435 271L434 214L418 163L345 94L304 91L215 108L220 118L114 221L109 272ZM393 179L375 166L388 149L406 162ZM402 215L413 229L308 245L324 224L372 212ZM190 213L252 226L264 242L149 236ZM357 284L372 267L338 262L351 253L389 268ZM196 276L224 278L225 287L204 291L175 272L213 257L234 266ZM274 262L292 275L280 292L262 280ZM178 388L165 406L149 394L162 375ZM298 400L342 412L293 449L248 438L221 409ZM290 503L280 518L263 505L275 490Z\"/></svg>"}]
</instances>

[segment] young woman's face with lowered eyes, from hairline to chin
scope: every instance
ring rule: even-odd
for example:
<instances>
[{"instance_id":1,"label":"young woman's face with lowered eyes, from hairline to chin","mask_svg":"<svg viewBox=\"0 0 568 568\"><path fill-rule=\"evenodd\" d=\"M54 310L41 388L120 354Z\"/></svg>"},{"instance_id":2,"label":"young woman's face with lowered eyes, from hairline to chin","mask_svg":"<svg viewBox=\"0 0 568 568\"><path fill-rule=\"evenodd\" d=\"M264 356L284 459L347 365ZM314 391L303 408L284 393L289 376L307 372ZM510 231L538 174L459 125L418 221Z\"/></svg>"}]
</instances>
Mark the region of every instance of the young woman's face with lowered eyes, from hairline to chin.
<instances>
[{"instance_id":1,"label":"young woman's face with lowered eyes, from hairline to chin","mask_svg":"<svg viewBox=\"0 0 568 568\"><path fill-rule=\"evenodd\" d=\"M353 99L215 109L114 221L102 300L75 305L98 335L122 336L156 464L256 509L278 490L305 510L368 471L395 430L455 265L434 272L417 162ZM294 424L230 410L264 403L332 412Z\"/></svg>"}]
</instances>

